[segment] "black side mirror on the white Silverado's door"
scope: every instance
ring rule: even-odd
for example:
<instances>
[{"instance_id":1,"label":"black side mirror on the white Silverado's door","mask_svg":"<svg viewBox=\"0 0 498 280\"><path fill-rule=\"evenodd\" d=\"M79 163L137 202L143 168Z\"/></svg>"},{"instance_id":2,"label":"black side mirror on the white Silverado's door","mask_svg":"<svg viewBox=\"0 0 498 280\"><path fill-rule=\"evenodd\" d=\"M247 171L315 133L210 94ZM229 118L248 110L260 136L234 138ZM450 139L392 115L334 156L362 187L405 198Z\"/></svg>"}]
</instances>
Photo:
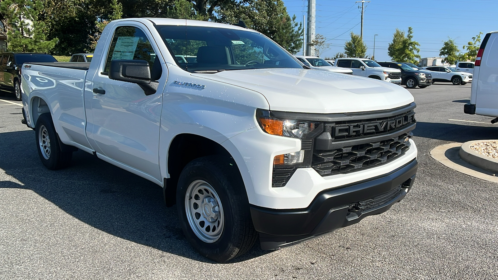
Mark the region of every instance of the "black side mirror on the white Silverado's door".
<instances>
[{"instance_id":1,"label":"black side mirror on the white Silverado's door","mask_svg":"<svg viewBox=\"0 0 498 280\"><path fill-rule=\"evenodd\" d=\"M150 80L149 63L145 60L111 60L109 79L137 84L145 95L156 93L159 83Z\"/></svg>"}]
</instances>

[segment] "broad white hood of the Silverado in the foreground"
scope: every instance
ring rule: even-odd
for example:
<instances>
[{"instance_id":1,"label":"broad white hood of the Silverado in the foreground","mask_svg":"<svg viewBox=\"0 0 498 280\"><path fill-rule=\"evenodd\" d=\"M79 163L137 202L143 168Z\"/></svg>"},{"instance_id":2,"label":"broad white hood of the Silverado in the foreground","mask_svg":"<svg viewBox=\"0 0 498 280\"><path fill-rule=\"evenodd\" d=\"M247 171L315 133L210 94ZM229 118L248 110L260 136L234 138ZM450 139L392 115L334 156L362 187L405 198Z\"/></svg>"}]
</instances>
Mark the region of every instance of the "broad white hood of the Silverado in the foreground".
<instances>
[{"instance_id":1,"label":"broad white hood of the Silverado in the foreground","mask_svg":"<svg viewBox=\"0 0 498 280\"><path fill-rule=\"evenodd\" d=\"M413 102L413 96L398 85L313 69L250 69L191 75L256 91L275 111L352 113L392 109Z\"/></svg>"}]
</instances>

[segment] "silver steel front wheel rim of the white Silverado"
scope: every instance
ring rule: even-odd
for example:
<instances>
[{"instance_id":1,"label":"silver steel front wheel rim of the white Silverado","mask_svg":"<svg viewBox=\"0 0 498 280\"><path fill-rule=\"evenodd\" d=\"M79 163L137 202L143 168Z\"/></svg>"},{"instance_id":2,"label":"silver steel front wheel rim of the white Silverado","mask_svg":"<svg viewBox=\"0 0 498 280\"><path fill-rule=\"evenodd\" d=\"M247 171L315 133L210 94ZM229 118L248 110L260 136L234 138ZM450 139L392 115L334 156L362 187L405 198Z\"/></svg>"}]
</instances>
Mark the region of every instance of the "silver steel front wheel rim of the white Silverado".
<instances>
[{"instance_id":1,"label":"silver steel front wheel rim of the white Silverado","mask_svg":"<svg viewBox=\"0 0 498 280\"><path fill-rule=\"evenodd\" d=\"M223 206L214 188L204 180L195 180L185 194L185 213L190 228L206 243L220 239L225 225Z\"/></svg>"}]
</instances>

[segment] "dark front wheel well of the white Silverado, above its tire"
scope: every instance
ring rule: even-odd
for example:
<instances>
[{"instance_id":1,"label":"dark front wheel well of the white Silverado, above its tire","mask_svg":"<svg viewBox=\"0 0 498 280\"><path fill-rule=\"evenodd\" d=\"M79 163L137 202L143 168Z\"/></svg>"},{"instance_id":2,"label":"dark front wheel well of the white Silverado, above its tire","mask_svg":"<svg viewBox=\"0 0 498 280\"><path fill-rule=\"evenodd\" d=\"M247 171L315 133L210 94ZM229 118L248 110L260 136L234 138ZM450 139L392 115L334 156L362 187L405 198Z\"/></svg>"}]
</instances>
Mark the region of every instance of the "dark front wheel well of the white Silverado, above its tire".
<instances>
[{"instance_id":1,"label":"dark front wheel well of the white Silverado, above its tire","mask_svg":"<svg viewBox=\"0 0 498 280\"><path fill-rule=\"evenodd\" d=\"M196 158L214 154L224 155L228 160L232 157L222 145L202 136L180 134L171 141L167 162L169 178L164 179L163 189L166 206L176 203L176 185L185 165Z\"/></svg>"}]
</instances>

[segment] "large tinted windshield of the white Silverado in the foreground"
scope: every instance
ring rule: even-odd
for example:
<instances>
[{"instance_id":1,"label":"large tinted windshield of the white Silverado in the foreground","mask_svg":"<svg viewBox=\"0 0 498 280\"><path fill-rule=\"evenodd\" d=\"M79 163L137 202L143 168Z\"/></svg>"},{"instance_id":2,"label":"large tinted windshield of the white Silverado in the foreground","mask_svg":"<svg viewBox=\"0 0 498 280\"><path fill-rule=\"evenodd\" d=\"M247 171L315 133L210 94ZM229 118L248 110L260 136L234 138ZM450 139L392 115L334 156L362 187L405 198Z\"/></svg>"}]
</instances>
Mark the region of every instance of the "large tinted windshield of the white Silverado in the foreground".
<instances>
[{"instance_id":1,"label":"large tinted windshield of the white Silverado in the foreground","mask_svg":"<svg viewBox=\"0 0 498 280\"><path fill-rule=\"evenodd\" d=\"M207 26L156 28L178 66L190 72L302 68L280 46L257 32Z\"/></svg>"}]
</instances>

